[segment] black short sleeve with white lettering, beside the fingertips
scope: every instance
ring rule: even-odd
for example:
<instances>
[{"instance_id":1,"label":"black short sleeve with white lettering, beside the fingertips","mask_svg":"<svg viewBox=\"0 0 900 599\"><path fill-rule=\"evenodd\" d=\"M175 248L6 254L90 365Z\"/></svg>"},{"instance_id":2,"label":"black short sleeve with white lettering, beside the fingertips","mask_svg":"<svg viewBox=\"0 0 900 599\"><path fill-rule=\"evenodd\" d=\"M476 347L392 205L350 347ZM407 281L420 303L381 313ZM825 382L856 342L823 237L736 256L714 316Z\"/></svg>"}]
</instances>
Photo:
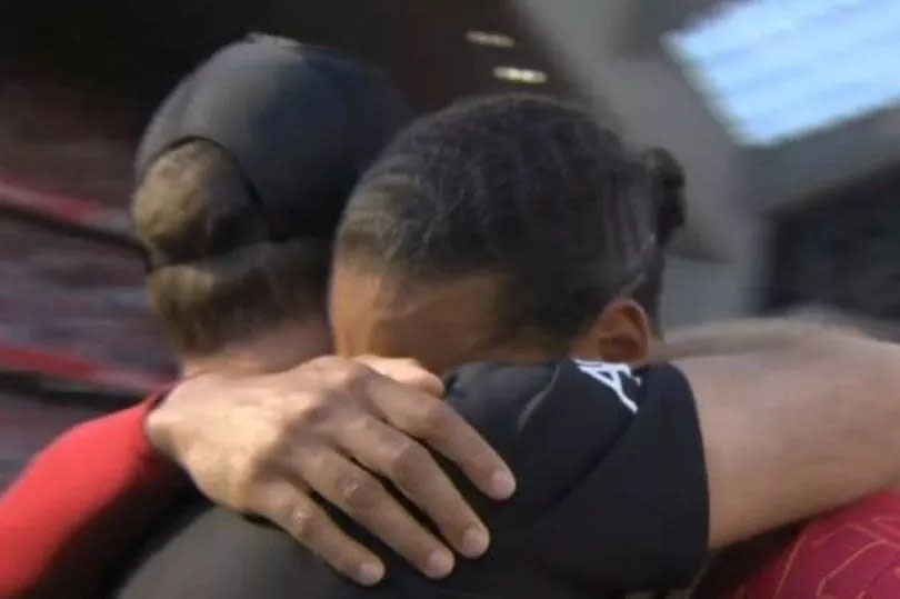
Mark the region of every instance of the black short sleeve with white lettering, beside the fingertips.
<instances>
[{"instance_id":1,"label":"black short sleeve with white lettering, beside the fingertips","mask_svg":"<svg viewBox=\"0 0 900 599\"><path fill-rule=\"evenodd\" d=\"M709 491L686 377L563 361L526 393L504 392L511 378L477 376L479 391L457 401L519 481L504 502L514 509L477 508L491 529L513 529L520 551L599 587L689 585L707 552ZM508 399L517 393L528 400Z\"/></svg>"}]
</instances>

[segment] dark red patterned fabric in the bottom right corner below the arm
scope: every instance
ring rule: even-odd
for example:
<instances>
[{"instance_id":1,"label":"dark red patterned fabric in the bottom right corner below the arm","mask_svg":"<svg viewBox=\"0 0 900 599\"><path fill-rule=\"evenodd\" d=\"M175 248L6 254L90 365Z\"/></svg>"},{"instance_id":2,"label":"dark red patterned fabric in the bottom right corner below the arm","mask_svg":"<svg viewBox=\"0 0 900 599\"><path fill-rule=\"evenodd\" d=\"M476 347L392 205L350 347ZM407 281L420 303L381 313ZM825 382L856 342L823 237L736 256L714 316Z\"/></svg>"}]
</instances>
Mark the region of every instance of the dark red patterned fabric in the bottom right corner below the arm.
<instances>
[{"instance_id":1,"label":"dark red patterned fabric in the bottom right corner below the arm","mask_svg":"<svg viewBox=\"0 0 900 599\"><path fill-rule=\"evenodd\" d=\"M808 523L729 599L900 598L900 492Z\"/></svg>"}]
</instances>

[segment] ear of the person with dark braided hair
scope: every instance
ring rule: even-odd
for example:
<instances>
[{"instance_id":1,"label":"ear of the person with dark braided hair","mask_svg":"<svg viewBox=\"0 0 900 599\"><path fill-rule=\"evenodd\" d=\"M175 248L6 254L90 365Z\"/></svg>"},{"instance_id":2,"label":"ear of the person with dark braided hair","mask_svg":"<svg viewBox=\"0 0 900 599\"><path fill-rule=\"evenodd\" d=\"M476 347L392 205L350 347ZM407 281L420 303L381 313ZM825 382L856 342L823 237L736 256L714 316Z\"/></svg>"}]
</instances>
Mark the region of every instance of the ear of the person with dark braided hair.
<instances>
[{"instance_id":1,"label":"ear of the person with dark braided hair","mask_svg":"<svg viewBox=\"0 0 900 599\"><path fill-rule=\"evenodd\" d=\"M636 363L650 355L653 333L643 308L632 299L609 302L593 325L572 345L572 356L608 362Z\"/></svg>"}]
</instances>

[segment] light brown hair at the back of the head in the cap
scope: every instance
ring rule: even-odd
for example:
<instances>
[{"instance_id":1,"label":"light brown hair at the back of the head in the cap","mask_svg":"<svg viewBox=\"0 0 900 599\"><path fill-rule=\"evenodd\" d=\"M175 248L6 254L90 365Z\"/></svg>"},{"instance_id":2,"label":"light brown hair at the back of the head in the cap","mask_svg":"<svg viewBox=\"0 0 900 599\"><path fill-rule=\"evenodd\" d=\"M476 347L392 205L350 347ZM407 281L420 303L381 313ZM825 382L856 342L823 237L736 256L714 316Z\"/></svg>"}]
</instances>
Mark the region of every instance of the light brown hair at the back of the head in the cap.
<instances>
[{"instance_id":1,"label":"light brown hair at the back of the head in the cap","mask_svg":"<svg viewBox=\"0 0 900 599\"><path fill-rule=\"evenodd\" d=\"M331 239L269 241L249 183L218 146L194 140L161 154L131 211L156 264L150 306L177 351L208 355L324 310Z\"/></svg>"}]
</instances>

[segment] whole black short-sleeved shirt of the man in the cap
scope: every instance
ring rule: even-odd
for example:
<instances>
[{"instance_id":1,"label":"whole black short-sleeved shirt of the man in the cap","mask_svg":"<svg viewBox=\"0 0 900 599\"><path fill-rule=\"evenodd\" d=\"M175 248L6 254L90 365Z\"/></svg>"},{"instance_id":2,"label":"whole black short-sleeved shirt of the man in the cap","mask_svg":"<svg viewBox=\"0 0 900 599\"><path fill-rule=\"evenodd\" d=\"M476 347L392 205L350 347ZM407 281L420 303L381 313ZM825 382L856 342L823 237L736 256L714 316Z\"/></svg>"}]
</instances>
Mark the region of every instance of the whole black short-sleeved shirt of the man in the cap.
<instances>
[{"instance_id":1,"label":"whole black short-sleeved shirt of the man in the cap","mask_svg":"<svg viewBox=\"0 0 900 599\"><path fill-rule=\"evenodd\" d=\"M201 503L147 550L117 597L596 599L686 586L708 537L692 395L674 368L616 368L474 365L453 377L449 401L508 460L519 487L494 502L454 473L493 542L447 580L420 577L334 513L388 561L388 579L363 589L272 527Z\"/></svg>"}]
</instances>

